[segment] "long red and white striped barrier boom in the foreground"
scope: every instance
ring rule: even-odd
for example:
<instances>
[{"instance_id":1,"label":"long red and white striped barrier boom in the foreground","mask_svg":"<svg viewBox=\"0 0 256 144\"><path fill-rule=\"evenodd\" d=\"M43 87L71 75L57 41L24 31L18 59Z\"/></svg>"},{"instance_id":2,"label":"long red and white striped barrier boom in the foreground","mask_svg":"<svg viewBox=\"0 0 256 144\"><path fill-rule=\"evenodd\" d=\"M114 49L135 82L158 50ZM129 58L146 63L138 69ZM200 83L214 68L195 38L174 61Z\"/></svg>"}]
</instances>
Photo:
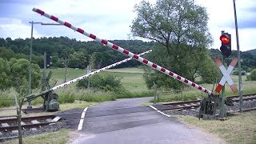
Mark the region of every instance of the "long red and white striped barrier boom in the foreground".
<instances>
[{"instance_id":1,"label":"long red and white striped barrier boom in the foreground","mask_svg":"<svg viewBox=\"0 0 256 144\"><path fill-rule=\"evenodd\" d=\"M38 14L41 14L43 16L45 16L46 18L50 18L52 20L54 20L55 22L58 22L66 27L69 27L70 29L74 30L74 31L78 31L79 33L81 34L84 34L86 35L87 37L89 38L93 38L95 41L97 42L101 42L102 44L106 45L106 46L109 46L110 48L114 49L114 50L117 50L118 52L122 53L122 54L126 54L128 55L130 58L134 58L135 60L137 60L138 62L142 62L143 64L147 65L147 66L150 66L152 67L153 69L155 70L158 70L166 75L169 75L170 77L174 78L174 79L177 79L178 81L180 82L183 82L185 83L186 85L188 86L192 86L194 88L197 88L198 90L202 90L203 92L205 92L206 94L209 94L211 95L212 92L210 90L206 90L206 88L202 87L202 86L199 86L198 84L194 83L194 82L191 82L190 80L186 79L186 78L182 78L181 76L179 76L178 74L175 74L174 72L170 71L170 70L166 70L166 68L162 67L162 66L158 66L157 64L153 63L153 62L150 62L148 61L147 59L145 58L141 58L139 57L138 55L136 54L133 54L131 53L130 51L126 50L126 49L123 49L122 47L120 46L117 46L117 45L114 45L113 43L111 42L107 42L105 39L102 39L102 38L98 38L96 37L94 34L89 34L89 33L86 33L85 30L82 30L81 28L77 28L75 26L72 26L69 22L63 22L62 20L60 20L59 18L57 17L54 17L54 15L50 15L50 14L46 14L44 11L42 10L39 10L39 9L36 9L34 8L33 9L34 12L37 12ZM55 86L56 87L56 86Z\"/></svg>"}]
</instances>

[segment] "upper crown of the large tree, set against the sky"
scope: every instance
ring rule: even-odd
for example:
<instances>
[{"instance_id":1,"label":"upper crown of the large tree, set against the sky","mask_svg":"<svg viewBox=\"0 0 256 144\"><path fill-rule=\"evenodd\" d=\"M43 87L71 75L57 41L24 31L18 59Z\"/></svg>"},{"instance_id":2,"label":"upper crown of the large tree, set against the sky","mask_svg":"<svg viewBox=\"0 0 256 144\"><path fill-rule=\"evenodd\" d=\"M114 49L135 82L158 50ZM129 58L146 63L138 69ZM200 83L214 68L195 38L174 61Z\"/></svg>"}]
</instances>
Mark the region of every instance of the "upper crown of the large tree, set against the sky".
<instances>
[{"instance_id":1,"label":"upper crown of the large tree, set against the sky","mask_svg":"<svg viewBox=\"0 0 256 144\"><path fill-rule=\"evenodd\" d=\"M131 33L161 43L168 54L178 50L180 44L207 46L211 42L206 9L195 5L194 0L158 0L154 6L142 1L135 12L138 17Z\"/></svg>"}]
</instances>

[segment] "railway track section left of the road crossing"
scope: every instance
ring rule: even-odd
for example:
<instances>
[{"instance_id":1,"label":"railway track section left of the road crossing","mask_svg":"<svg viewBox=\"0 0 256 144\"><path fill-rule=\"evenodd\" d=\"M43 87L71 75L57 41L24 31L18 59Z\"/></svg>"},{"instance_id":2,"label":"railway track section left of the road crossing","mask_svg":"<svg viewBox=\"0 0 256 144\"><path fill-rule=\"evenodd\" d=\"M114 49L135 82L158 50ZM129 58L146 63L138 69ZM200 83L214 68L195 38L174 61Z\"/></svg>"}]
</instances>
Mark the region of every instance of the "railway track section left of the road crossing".
<instances>
[{"instance_id":1,"label":"railway track section left of the road crossing","mask_svg":"<svg viewBox=\"0 0 256 144\"><path fill-rule=\"evenodd\" d=\"M42 126L62 122L62 118L54 115L42 115L22 118L23 130L40 130ZM18 135L18 118L0 118L0 141L16 138Z\"/></svg>"}]
</instances>

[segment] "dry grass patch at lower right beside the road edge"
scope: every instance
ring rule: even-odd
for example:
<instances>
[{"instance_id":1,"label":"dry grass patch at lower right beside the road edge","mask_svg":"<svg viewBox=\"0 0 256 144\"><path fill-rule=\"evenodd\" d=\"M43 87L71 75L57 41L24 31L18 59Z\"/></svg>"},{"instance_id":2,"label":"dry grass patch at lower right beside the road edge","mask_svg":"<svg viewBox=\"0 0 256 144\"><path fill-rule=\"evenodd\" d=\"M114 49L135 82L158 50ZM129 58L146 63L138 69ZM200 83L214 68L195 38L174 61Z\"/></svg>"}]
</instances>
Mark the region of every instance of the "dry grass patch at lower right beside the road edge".
<instances>
[{"instance_id":1,"label":"dry grass patch at lower right beside the road edge","mask_svg":"<svg viewBox=\"0 0 256 144\"><path fill-rule=\"evenodd\" d=\"M226 121L198 120L192 116L175 116L189 126L216 134L228 143L256 143L256 110L234 114Z\"/></svg>"}]
</instances>

